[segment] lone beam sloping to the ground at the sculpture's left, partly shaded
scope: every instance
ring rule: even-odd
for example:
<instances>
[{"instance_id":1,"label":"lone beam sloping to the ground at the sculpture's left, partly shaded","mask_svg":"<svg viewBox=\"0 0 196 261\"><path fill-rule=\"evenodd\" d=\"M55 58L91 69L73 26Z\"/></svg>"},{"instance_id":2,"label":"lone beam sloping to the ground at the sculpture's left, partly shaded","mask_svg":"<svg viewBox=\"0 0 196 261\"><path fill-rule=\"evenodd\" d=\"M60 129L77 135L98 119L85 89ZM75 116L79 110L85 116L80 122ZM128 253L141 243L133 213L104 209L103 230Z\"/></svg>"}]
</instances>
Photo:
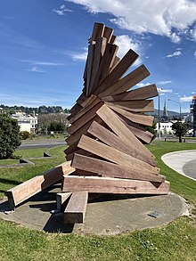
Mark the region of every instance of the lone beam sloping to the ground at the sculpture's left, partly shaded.
<instances>
[{"instance_id":1,"label":"lone beam sloping to the ground at the sculpture's left, partly shaded","mask_svg":"<svg viewBox=\"0 0 196 261\"><path fill-rule=\"evenodd\" d=\"M48 186L55 184L62 179L62 175L69 175L75 171L75 168L70 167L70 162L66 162L64 166L54 167L46 171L42 175L37 175L28 181L15 186L5 192L8 197L10 207L14 209L24 200L28 200L38 192L41 192Z\"/></svg>"}]
</instances>

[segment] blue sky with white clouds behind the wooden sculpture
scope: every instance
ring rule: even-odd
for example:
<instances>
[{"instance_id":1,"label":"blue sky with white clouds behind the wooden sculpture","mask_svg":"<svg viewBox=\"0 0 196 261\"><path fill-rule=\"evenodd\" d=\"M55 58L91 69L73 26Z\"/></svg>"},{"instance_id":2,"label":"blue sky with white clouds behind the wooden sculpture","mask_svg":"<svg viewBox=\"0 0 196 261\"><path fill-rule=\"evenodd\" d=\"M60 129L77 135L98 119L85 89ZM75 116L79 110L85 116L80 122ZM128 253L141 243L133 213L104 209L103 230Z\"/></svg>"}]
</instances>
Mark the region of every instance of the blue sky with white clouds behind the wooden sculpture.
<instances>
[{"instance_id":1,"label":"blue sky with white clouds behind the wooden sculpture","mask_svg":"<svg viewBox=\"0 0 196 261\"><path fill-rule=\"evenodd\" d=\"M118 36L151 72L160 107L189 111L196 94L196 1L1 0L0 104L70 108L83 88L87 39L94 22ZM158 98L154 99L158 108Z\"/></svg>"}]
</instances>

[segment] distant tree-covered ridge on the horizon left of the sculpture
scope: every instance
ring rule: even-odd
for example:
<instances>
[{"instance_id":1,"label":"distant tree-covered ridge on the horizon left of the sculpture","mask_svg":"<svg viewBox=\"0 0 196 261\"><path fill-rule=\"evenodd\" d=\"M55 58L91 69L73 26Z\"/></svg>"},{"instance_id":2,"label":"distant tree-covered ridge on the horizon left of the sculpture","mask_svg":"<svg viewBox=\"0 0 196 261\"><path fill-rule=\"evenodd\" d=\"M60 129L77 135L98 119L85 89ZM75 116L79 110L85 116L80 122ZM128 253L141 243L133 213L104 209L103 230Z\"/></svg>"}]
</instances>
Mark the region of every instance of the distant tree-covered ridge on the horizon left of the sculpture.
<instances>
[{"instance_id":1,"label":"distant tree-covered ridge on the horizon left of the sculpture","mask_svg":"<svg viewBox=\"0 0 196 261\"><path fill-rule=\"evenodd\" d=\"M69 109L62 109L61 106L39 106L39 107L24 107L24 106L6 106L4 104L0 105L3 108L4 112L13 114L16 111L22 111L27 114L49 114L49 113L69 113Z\"/></svg>"}]
</instances>

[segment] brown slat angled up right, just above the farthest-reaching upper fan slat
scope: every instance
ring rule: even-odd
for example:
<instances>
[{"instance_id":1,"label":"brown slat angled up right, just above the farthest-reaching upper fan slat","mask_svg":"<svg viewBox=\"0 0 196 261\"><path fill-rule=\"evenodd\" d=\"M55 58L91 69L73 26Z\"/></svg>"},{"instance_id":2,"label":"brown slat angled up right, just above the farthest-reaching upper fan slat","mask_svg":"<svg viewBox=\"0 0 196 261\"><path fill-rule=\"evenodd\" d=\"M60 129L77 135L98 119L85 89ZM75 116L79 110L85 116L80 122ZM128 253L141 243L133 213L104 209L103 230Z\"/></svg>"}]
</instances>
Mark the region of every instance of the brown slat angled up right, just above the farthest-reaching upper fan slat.
<instances>
[{"instance_id":1,"label":"brown slat angled up right, just above the farthest-reaching upper fan slat","mask_svg":"<svg viewBox=\"0 0 196 261\"><path fill-rule=\"evenodd\" d=\"M119 61L118 65L121 61ZM117 65L117 67L118 67ZM116 67L116 68L117 68ZM113 69L112 71L114 71ZM112 72L111 72L112 73ZM102 93L99 94L99 97L105 97L108 95L121 94L127 92L131 87L135 86L139 82L141 82L144 78L150 76L150 72L144 65L141 65L137 69L128 73L127 76L121 78L117 82L115 82L112 86L108 86ZM143 99L142 99L143 100Z\"/></svg>"}]
</instances>

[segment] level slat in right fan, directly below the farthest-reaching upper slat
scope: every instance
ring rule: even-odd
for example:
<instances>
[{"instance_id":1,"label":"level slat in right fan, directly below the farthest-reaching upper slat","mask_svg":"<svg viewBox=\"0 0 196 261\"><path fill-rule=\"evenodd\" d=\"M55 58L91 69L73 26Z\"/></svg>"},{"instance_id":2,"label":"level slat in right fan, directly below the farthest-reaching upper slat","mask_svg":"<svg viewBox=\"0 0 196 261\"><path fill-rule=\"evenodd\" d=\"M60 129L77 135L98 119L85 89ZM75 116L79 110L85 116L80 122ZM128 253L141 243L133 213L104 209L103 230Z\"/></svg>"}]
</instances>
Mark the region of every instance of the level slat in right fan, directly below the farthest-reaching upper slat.
<instances>
[{"instance_id":1,"label":"level slat in right fan, directly below the farthest-reaching upper slat","mask_svg":"<svg viewBox=\"0 0 196 261\"><path fill-rule=\"evenodd\" d=\"M134 112L154 111L153 100L125 101L125 102L105 102L110 108L116 107Z\"/></svg>"}]
</instances>

